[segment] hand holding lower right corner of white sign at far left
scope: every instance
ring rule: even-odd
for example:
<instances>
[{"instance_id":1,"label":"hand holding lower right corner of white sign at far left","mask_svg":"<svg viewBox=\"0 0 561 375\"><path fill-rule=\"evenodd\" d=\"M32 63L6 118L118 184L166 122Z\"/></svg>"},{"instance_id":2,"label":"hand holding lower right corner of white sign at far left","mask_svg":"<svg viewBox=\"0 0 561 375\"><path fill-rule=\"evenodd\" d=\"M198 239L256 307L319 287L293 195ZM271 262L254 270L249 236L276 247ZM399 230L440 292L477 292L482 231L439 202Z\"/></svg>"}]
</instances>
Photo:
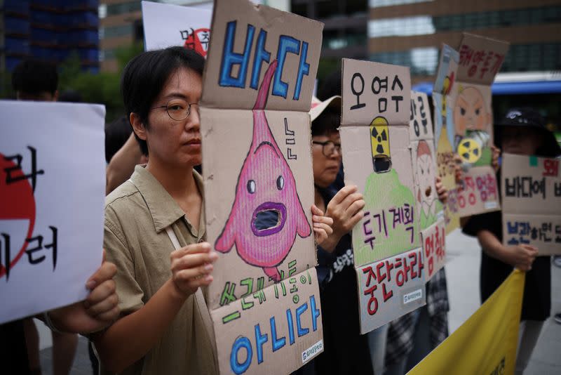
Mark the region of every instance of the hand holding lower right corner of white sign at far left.
<instances>
[{"instance_id":1,"label":"hand holding lower right corner of white sign at far left","mask_svg":"<svg viewBox=\"0 0 561 375\"><path fill-rule=\"evenodd\" d=\"M111 262L103 261L100 268L86 282L90 294L86 300L50 310L48 316L59 331L89 334L100 331L119 317L119 297L116 294L117 269Z\"/></svg>"}]
</instances>

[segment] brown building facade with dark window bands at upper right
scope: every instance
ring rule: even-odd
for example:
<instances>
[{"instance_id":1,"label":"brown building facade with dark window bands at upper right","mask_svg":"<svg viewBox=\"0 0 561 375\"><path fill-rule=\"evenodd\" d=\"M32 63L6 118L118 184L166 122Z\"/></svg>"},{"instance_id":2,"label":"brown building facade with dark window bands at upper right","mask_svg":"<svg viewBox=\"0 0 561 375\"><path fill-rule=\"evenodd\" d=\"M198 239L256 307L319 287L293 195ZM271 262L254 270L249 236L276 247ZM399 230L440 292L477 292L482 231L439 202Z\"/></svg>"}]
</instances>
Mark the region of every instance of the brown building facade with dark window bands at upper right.
<instances>
[{"instance_id":1,"label":"brown building facade with dark window bands at upper right","mask_svg":"<svg viewBox=\"0 0 561 375\"><path fill-rule=\"evenodd\" d=\"M561 70L559 0L370 0L368 58L432 81L442 43L462 32L511 43L501 72Z\"/></svg>"}]
</instances>

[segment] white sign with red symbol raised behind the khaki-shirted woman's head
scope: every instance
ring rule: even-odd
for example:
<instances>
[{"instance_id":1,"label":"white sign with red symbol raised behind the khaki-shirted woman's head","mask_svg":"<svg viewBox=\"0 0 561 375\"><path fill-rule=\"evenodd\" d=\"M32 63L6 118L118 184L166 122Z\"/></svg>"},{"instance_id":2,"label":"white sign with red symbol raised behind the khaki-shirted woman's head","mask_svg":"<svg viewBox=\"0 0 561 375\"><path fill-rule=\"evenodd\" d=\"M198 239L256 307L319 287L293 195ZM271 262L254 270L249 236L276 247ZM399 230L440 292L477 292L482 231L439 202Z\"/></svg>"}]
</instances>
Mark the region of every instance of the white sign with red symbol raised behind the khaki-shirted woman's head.
<instances>
[{"instance_id":1,"label":"white sign with red symbol raised behind the khaki-shirted woman's head","mask_svg":"<svg viewBox=\"0 0 561 375\"><path fill-rule=\"evenodd\" d=\"M150 51L184 46L206 57L211 15L208 9L142 1L144 48Z\"/></svg>"}]
</instances>

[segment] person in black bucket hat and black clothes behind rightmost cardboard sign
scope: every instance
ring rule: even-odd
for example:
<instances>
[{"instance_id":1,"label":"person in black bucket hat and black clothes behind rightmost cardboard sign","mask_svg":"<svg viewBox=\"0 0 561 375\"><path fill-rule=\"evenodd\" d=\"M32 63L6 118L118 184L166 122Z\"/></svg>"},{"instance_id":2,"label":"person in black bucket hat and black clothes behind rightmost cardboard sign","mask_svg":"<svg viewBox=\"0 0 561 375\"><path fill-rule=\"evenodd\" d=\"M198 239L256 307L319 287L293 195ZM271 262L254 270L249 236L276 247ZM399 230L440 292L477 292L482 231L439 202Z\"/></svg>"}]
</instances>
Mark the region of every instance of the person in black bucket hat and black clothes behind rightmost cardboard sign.
<instances>
[{"instance_id":1,"label":"person in black bucket hat and black clothes behind rightmost cardboard sign","mask_svg":"<svg viewBox=\"0 0 561 375\"><path fill-rule=\"evenodd\" d=\"M561 147L548 131L543 117L531 108L513 108L495 124L496 143L510 154L558 157ZM499 178L497 178L500 181ZM499 189L500 189L499 185ZM538 341L543 321L551 307L550 256L538 256L535 246L502 243L501 211L472 216L463 228L478 237L482 247L480 294L482 303L489 298L513 268L526 271L522 316L519 331L516 374L522 374Z\"/></svg>"}]
</instances>

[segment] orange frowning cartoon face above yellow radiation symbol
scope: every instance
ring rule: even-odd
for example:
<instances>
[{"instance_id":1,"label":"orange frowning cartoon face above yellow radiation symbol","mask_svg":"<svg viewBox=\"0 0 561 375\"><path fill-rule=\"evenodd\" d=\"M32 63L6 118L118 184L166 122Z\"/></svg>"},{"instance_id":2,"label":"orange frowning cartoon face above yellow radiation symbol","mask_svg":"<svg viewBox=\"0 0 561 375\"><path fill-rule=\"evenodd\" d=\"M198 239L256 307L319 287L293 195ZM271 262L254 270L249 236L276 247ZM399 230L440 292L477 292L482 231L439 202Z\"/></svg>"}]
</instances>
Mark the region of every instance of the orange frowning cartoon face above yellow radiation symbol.
<instances>
[{"instance_id":1,"label":"orange frowning cartoon face above yellow radiation symbol","mask_svg":"<svg viewBox=\"0 0 561 375\"><path fill-rule=\"evenodd\" d=\"M454 105L456 135L464 137L467 130L486 131L490 123L491 114L481 92L475 87L460 91Z\"/></svg>"}]
</instances>

